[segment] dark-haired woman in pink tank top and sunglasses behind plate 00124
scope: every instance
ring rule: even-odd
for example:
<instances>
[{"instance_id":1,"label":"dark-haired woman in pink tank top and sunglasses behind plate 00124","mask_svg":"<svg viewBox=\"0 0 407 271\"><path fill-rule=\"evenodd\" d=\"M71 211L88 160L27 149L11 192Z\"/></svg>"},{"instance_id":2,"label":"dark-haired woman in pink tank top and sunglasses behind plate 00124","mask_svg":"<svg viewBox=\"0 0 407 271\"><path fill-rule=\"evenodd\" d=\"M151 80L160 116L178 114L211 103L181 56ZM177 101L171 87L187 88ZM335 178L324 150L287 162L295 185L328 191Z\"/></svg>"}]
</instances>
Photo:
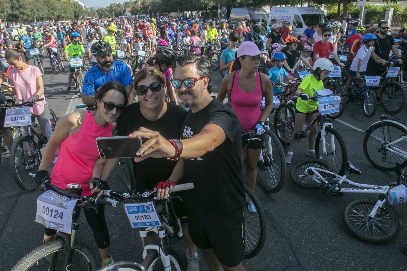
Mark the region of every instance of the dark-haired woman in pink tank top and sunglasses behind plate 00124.
<instances>
[{"instance_id":1,"label":"dark-haired woman in pink tank top and sunglasses behind plate 00124","mask_svg":"<svg viewBox=\"0 0 407 271\"><path fill-rule=\"evenodd\" d=\"M102 195L101 189L109 189L108 176L103 175L105 159L99 157L97 137L111 137L113 123L127 105L127 92L118 82L107 82L95 95L97 110L73 112L61 117L49 139L42 156L39 171L35 176L37 184L50 178L56 186L65 189L69 183L80 184L82 195ZM48 167L57 147L58 160L51 176ZM94 188L90 180L97 178L103 186ZM83 208L86 220L92 228L96 244L101 253L102 263L112 262L109 254L109 230L105 221L104 206L94 209ZM56 230L45 228L44 242L53 240ZM107 260L106 260L107 259Z\"/></svg>"}]
</instances>

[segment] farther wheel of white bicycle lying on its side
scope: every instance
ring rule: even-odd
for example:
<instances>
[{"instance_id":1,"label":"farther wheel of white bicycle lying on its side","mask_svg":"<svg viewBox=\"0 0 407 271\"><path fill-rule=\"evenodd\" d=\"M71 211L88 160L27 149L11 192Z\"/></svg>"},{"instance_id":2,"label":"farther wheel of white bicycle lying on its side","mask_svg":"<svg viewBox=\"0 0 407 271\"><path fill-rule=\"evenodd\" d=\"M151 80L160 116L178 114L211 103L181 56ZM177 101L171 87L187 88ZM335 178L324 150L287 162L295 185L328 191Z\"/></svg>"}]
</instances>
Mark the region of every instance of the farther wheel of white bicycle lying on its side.
<instances>
[{"instance_id":1,"label":"farther wheel of white bicycle lying on its side","mask_svg":"<svg viewBox=\"0 0 407 271\"><path fill-rule=\"evenodd\" d=\"M330 165L322 160L319 159L309 159L306 161L302 161L293 167L290 170L290 179L293 184L303 189L320 189L325 184L323 182L318 182L317 180L313 179L314 175L312 172L305 172L305 169L309 167L318 167L320 169L330 170ZM321 175L324 175L321 173ZM328 178L329 176L324 176Z\"/></svg>"}]
</instances>

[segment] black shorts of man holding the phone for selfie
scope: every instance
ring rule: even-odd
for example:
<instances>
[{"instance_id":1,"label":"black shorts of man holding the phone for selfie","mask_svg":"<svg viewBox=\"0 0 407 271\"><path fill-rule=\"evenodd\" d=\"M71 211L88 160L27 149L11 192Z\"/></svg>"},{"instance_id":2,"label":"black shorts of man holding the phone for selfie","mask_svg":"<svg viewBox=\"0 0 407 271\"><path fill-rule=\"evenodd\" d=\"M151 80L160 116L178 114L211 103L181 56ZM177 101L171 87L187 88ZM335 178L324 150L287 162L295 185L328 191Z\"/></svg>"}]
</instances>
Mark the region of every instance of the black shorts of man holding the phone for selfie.
<instances>
[{"instance_id":1,"label":"black shorts of man holding the phone for selfie","mask_svg":"<svg viewBox=\"0 0 407 271\"><path fill-rule=\"evenodd\" d=\"M188 213L188 230L194 244L213 248L226 267L236 267L245 258L244 207L228 213Z\"/></svg>"}]
</instances>

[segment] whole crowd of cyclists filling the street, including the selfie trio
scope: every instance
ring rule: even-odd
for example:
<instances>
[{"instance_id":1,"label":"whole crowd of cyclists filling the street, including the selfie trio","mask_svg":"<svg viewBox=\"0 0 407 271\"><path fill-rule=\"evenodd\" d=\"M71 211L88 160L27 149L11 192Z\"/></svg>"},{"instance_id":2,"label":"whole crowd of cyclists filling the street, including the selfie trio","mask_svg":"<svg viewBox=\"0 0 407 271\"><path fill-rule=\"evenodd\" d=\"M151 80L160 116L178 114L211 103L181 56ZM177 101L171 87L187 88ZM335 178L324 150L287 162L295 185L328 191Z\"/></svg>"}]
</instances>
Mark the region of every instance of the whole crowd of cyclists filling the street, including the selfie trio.
<instances>
[{"instance_id":1,"label":"whole crowd of cyclists filling the street, including the selfie trio","mask_svg":"<svg viewBox=\"0 0 407 271\"><path fill-rule=\"evenodd\" d=\"M3 32L0 58L9 67L3 65L0 70L6 67L10 86L5 88L18 100L44 99L31 109L48 138L35 176L37 184L49 179L65 188L74 182L81 184L82 195L100 196L102 190L109 189L106 180L120 159L100 158L96 137L140 136L145 142L135 154L142 157L133 162L136 189L155 187L158 197L166 198L179 182L195 185L195 189L185 192L184 208L180 210L188 214L188 223L183 224L188 270L199 270L197 247L210 270L244 270L243 205L250 199L245 197L241 171L246 168L247 186L254 191L273 95L285 91L282 82L298 77L298 61L310 70L311 74L293 93L298 96L295 131L285 158L286 163L291 163L297 143L295 134L317 114L317 103L308 100L315 91L325 88L324 81L334 71L334 63L344 67L341 54L350 53L346 91L354 80L363 85L363 75L381 74L389 60L403 65L405 70L402 56L407 44L406 29L401 29L396 39L388 33L385 21L376 27L363 26L359 19L330 24L308 22L299 37L292 35L289 21L253 19L235 25L230 20L196 17L80 20L26 27L25 32L19 31L21 37L14 46ZM210 61L201 55L207 44L215 41L221 48L219 69L224 76L217 99L211 96ZM181 43L185 54L179 55L177 43ZM44 46L48 55L59 57L52 49L59 45L68 63L69 59L83 56L92 63L84 76L81 98L95 110L61 117L52 132L42 74L37 67L28 65L29 50ZM118 50L132 55L146 48L151 50L147 67L132 76L129 67L118 61ZM68 92L72 90L74 72L70 67ZM376 96L379 101L380 89ZM227 97L231 107L223 103ZM135 98L138 102L134 102ZM5 99L1 94L0 102ZM260 109L262 101L264 107ZM4 119L4 111L0 118ZM259 139L247 145L245 154L241 153L245 140L241 130L254 130ZM10 149L10 131L0 126L0 133ZM316 135L315 123L306 153L313 158ZM50 173L54 156L58 159ZM196 172L200 172L199 176ZM256 212L251 202L248 211ZM101 264L112 263L110 252L114 249L109 249L103 206L86 211L85 217L100 251ZM45 228L44 243L54 235L54 230Z\"/></svg>"}]
</instances>

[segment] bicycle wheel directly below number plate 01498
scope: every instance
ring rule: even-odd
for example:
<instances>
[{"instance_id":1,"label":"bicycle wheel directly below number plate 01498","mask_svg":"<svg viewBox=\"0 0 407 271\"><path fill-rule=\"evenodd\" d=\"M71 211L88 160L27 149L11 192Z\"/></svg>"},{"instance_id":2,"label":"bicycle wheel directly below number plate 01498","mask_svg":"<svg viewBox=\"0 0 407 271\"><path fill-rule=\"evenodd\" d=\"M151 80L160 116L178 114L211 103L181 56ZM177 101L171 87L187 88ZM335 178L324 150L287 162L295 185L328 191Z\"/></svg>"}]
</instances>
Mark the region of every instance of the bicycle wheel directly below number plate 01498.
<instances>
[{"instance_id":1,"label":"bicycle wheel directly below number plate 01498","mask_svg":"<svg viewBox=\"0 0 407 271\"><path fill-rule=\"evenodd\" d=\"M380 105L384 111L390 114L397 114L402 111L405 101L406 91L399 82L387 82L380 93Z\"/></svg>"}]
</instances>

